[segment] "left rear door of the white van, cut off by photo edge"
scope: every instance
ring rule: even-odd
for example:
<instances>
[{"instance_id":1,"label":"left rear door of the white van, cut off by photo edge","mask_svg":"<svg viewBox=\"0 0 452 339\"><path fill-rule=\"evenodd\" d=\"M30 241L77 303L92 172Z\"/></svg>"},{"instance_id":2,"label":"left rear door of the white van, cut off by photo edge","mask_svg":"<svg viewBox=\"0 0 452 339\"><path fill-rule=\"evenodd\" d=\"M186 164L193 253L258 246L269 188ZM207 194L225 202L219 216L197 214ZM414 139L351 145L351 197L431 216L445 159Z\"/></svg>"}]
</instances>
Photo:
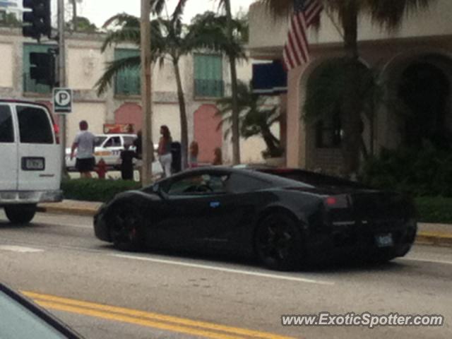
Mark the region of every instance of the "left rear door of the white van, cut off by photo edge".
<instances>
[{"instance_id":1,"label":"left rear door of the white van, cut off by photo edge","mask_svg":"<svg viewBox=\"0 0 452 339\"><path fill-rule=\"evenodd\" d=\"M0 191L16 191L18 147L9 105L0 105Z\"/></svg>"}]
</instances>

